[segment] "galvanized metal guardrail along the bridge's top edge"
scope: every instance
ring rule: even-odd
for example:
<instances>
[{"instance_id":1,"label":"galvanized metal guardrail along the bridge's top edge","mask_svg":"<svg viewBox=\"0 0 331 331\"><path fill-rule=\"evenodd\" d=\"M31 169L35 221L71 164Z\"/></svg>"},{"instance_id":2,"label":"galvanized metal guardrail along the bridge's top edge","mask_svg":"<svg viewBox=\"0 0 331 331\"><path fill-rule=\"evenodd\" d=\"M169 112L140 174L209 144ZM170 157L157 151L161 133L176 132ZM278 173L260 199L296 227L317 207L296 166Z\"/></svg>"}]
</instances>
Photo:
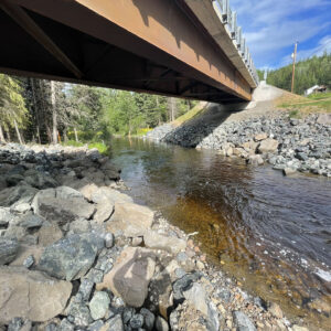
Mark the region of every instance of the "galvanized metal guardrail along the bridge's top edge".
<instances>
[{"instance_id":1,"label":"galvanized metal guardrail along the bridge's top edge","mask_svg":"<svg viewBox=\"0 0 331 331\"><path fill-rule=\"evenodd\" d=\"M250 56L246 40L243 36L242 26L237 25L237 13L229 8L229 0L213 0L216 2L221 13L221 22L224 24L229 38L233 40L238 54L242 56L254 82L258 85L259 78Z\"/></svg>"}]
</instances>

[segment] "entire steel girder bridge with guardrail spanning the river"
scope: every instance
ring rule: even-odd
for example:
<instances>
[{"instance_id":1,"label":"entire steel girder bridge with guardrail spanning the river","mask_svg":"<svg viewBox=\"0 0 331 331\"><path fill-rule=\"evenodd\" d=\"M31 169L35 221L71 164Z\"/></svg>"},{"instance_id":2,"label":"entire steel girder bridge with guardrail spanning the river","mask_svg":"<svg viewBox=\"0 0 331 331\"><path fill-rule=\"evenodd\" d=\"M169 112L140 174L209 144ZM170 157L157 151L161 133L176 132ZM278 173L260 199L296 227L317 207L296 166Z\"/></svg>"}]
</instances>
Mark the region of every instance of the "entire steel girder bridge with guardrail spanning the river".
<instances>
[{"instance_id":1,"label":"entire steel girder bridge with guardrail spanning the river","mask_svg":"<svg viewBox=\"0 0 331 331\"><path fill-rule=\"evenodd\" d=\"M0 72L222 104L258 77L228 0L0 0Z\"/></svg>"}]
</instances>

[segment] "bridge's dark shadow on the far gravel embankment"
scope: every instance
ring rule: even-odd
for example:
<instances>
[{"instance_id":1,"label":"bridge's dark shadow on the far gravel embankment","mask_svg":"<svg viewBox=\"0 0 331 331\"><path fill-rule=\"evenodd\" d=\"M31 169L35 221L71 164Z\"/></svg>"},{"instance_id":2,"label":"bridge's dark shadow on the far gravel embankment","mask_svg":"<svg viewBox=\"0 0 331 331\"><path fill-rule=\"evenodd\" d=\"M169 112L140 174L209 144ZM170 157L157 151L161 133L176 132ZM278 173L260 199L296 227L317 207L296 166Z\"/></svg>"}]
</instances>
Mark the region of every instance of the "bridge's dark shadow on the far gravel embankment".
<instances>
[{"instance_id":1,"label":"bridge's dark shadow on the far gravel embankment","mask_svg":"<svg viewBox=\"0 0 331 331\"><path fill-rule=\"evenodd\" d=\"M207 103L199 115L172 130L163 138L163 141L195 148L204 138L212 135L231 115L242 111L248 104L220 105Z\"/></svg>"}]
</instances>

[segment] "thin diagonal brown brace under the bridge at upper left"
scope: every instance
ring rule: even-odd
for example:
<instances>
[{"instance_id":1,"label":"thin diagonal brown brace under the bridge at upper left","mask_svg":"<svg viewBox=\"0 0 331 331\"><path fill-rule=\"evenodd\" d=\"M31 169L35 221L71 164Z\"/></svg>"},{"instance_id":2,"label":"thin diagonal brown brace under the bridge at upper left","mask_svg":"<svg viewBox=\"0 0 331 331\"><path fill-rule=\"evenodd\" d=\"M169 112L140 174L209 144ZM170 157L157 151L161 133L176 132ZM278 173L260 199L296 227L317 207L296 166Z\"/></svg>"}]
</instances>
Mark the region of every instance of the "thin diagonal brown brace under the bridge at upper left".
<instances>
[{"instance_id":1,"label":"thin diagonal brown brace under the bridge at upper left","mask_svg":"<svg viewBox=\"0 0 331 331\"><path fill-rule=\"evenodd\" d=\"M40 29L40 26L26 14L22 8L7 0L1 0L0 8L22 29L32 35L41 45L43 45L77 78L83 77L83 73L76 67L76 65L57 47L57 45L43 32L42 29Z\"/></svg>"}]
</instances>

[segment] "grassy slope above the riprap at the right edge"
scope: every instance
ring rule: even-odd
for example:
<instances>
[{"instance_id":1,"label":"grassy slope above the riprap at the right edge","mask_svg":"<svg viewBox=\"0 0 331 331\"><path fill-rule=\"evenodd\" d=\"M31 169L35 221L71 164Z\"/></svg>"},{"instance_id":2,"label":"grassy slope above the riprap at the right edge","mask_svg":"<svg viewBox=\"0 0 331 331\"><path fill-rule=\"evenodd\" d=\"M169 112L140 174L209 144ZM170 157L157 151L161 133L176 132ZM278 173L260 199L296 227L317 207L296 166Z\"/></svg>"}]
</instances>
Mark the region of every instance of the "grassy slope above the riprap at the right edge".
<instances>
[{"instance_id":1,"label":"grassy slope above the riprap at the right edge","mask_svg":"<svg viewBox=\"0 0 331 331\"><path fill-rule=\"evenodd\" d=\"M291 117L301 118L311 113L331 113L331 93L300 97L286 94L278 100L279 108L290 111Z\"/></svg>"}]
</instances>

